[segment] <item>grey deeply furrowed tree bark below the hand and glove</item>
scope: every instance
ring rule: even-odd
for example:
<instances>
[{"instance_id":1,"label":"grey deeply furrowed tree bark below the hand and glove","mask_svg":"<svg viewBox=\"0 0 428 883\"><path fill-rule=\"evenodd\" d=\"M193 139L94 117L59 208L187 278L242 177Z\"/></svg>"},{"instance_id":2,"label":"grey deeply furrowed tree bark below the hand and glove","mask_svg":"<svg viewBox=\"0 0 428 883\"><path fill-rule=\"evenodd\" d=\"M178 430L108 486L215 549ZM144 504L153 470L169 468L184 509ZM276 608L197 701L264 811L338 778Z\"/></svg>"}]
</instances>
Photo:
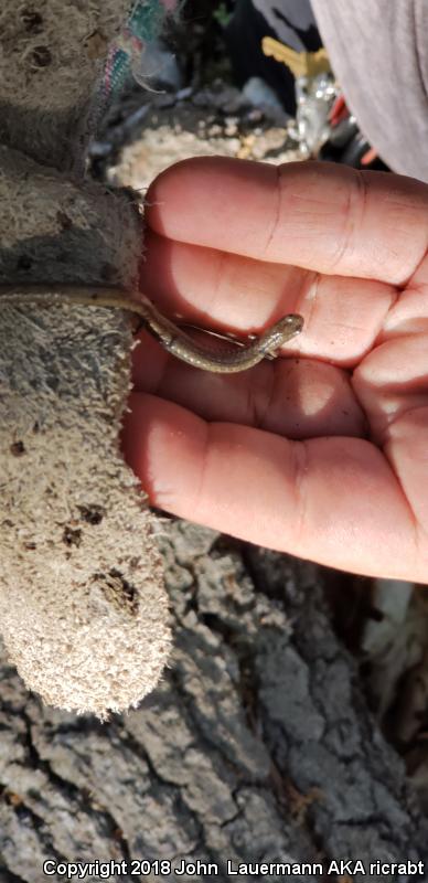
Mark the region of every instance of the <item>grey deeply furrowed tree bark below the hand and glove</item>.
<instances>
[{"instance_id":1,"label":"grey deeply furrowed tree bark below the hand and glove","mask_svg":"<svg viewBox=\"0 0 428 883\"><path fill-rule=\"evenodd\" d=\"M227 859L427 862L427 825L317 567L185 523L160 542L175 647L138 711L100 724L45 709L4 663L0 879L40 883L47 859L199 859L218 875L181 879L221 881Z\"/></svg>"}]
</instances>

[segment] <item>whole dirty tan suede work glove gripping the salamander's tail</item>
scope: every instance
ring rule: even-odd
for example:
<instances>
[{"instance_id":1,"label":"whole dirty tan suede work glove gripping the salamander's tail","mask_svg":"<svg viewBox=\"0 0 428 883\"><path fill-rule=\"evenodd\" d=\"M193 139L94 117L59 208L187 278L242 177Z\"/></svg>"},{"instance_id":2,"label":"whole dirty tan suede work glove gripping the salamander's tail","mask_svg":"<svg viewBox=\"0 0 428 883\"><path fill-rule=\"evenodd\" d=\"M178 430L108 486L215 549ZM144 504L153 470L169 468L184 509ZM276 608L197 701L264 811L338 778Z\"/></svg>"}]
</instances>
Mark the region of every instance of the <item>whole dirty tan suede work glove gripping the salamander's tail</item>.
<instances>
[{"instance_id":1,"label":"whole dirty tan suede work glove gripping the salamander's tail","mask_svg":"<svg viewBox=\"0 0 428 883\"><path fill-rule=\"evenodd\" d=\"M170 647L156 520L119 453L129 320L36 307L25 284L137 287L136 204L83 174L129 7L7 0L0 13L0 285L14 292L7 306L0 292L1 631L45 702L100 716L138 704Z\"/></svg>"}]
</instances>

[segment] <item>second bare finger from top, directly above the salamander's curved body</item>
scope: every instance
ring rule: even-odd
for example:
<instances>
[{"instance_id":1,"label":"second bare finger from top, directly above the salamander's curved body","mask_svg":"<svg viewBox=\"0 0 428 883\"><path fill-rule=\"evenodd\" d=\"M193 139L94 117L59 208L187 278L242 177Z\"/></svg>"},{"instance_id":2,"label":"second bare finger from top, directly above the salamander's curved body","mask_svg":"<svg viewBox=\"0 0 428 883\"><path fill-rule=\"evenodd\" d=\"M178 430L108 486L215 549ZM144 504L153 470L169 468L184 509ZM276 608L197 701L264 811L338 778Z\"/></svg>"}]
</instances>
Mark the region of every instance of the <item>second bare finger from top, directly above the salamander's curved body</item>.
<instances>
[{"instance_id":1,"label":"second bare finger from top, directly above the salamander's curved body","mask_svg":"<svg viewBox=\"0 0 428 883\"><path fill-rule=\"evenodd\" d=\"M371 279L322 276L214 248L147 237L141 290L161 312L212 330L257 333L281 316L303 316L287 347L350 368L373 347L396 289Z\"/></svg>"}]
</instances>

